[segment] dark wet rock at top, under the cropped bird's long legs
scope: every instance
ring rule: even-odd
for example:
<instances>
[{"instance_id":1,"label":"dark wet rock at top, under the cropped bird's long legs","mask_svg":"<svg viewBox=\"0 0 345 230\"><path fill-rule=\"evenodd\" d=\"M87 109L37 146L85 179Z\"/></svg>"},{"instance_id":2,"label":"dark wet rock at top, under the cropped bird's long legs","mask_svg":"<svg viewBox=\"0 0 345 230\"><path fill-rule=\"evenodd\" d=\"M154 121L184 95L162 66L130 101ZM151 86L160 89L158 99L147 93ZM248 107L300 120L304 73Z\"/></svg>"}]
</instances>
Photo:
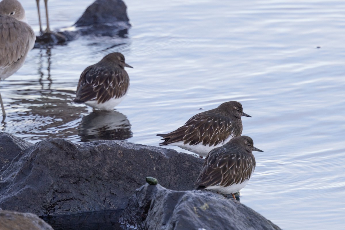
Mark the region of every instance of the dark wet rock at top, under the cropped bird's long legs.
<instances>
[{"instance_id":1,"label":"dark wet rock at top, under the cropped bird's long legs","mask_svg":"<svg viewBox=\"0 0 345 230\"><path fill-rule=\"evenodd\" d=\"M72 27L37 36L34 48L64 45L83 35L125 37L130 27L127 6L122 0L96 0Z\"/></svg>"}]
</instances>

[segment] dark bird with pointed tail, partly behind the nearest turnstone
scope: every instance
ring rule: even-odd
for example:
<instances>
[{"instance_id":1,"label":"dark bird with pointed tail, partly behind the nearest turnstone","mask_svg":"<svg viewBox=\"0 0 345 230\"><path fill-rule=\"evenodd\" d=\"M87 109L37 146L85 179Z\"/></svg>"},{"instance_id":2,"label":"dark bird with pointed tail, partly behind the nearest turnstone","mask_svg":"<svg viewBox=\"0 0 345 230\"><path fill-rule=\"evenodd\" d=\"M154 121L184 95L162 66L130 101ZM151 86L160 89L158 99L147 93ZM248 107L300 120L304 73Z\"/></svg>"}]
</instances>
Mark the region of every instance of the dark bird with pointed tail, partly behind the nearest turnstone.
<instances>
[{"instance_id":1,"label":"dark bird with pointed tail, partly behind the nearest turnstone","mask_svg":"<svg viewBox=\"0 0 345 230\"><path fill-rule=\"evenodd\" d=\"M197 153L200 157L207 156L212 149L241 136L242 116L251 117L243 112L241 103L222 103L215 109L196 114L175 131L157 134L164 141L159 145L174 145Z\"/></svg>"}]
</instances>

